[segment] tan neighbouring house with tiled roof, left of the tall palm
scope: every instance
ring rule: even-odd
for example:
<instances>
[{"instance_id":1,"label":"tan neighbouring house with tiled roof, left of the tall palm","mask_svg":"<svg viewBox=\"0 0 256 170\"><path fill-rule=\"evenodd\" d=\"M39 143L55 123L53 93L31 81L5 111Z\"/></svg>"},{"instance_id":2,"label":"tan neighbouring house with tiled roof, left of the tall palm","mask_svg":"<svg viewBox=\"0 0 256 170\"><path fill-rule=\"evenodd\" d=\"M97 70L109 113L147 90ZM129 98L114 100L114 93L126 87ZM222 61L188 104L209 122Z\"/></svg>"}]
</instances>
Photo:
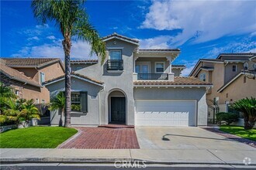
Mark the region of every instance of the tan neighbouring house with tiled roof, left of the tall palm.
<instances>
[{"instance_id":1,"label":"tan neighbouring house with tiled roof, left of the tall palm","mask_svg":"<svg viewBox=\"0 0 256 170\"><path fill-rule=\"evenodd\" d=\"M13 88L16 95L33 99L36 104L50 102L50 93L42 83L64 74L61 59L1 58L0 81Z\"/></svg>"}]
</instances>

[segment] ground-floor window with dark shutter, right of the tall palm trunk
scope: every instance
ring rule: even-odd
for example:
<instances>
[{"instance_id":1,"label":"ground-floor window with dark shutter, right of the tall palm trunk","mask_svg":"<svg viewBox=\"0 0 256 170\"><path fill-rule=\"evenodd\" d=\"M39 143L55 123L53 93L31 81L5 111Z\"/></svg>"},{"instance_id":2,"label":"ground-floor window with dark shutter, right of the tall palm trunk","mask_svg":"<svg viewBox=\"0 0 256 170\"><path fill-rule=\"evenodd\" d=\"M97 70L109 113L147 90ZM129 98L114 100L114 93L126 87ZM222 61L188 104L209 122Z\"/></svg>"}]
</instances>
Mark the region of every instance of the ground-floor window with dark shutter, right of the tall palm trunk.
<instances>
[{"instance_id":1,"label":"ground-floor window with dark shutter, right of the tall palm trunk","mask_svg":"<svg viewBox=\"0 0 256 170\"><path fill-rule=\"evenodd\" d=\"M71 110L79 112L88 111L87 92L72 92L71 93Z\"/></svg>"}]
</instances>

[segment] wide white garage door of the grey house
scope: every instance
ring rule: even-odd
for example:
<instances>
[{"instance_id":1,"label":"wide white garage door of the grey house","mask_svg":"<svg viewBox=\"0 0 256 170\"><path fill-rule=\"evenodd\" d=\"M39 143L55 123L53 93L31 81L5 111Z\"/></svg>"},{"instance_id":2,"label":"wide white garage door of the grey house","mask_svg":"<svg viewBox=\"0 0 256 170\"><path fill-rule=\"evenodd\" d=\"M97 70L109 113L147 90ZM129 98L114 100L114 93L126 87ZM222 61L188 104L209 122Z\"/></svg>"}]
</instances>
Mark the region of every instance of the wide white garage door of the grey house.
<instances>
[{"instance_id":1,"label":"wide white garage door of the grey house","mask_svg":"<svg viewBox=\"0 0 256 170\"><path fill-rule=\"evenodd\" d=\"M195 100L136 100L137 126L195 126Z\"/></svg>"}]
</instances>

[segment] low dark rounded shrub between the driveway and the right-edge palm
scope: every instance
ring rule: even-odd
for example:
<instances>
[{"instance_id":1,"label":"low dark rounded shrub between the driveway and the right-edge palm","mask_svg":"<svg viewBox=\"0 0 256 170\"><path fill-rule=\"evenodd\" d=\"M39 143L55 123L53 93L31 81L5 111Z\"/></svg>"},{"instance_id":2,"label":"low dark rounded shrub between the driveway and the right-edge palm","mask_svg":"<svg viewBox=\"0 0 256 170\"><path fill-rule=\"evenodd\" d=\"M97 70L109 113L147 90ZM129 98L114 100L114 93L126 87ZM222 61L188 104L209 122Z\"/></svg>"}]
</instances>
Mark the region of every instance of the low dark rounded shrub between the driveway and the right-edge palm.
<instances>
[{"instance_id":1,"label":"low dark rounded shrub between the driveway and the right-edge palm","mask_svg":"<svg viewBox=\"0 0 256 170\"><path fill-rule=\"evenodd\" d=\"M238 114L232 114L232 113L226 113L226 112L220 112L216 114L216 121L217 124L231 124L234 121L238 121L239 115Z\"/></svg>"}]
</instances>

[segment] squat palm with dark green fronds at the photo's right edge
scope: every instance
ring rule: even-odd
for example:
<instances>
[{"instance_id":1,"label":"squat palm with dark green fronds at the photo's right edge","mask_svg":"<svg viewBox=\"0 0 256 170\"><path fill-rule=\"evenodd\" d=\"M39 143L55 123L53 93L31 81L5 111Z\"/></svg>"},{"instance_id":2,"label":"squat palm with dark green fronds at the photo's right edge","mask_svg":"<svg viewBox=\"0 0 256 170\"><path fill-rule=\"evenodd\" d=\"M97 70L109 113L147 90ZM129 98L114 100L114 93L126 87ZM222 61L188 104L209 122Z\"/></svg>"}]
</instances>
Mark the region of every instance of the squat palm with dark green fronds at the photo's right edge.
<instances>
[{"instance_id":1,"label":"squat palm with dark green fronds at the photo's right edge","mask_svg":"<svg viewBox=\"0 0 256 170\"><path fill-rule=\"evenodd\" d=\"M244 129L254 128L256 121L256 99L254 97L237 100L231 107L244 114Z\"/></svg>"}]
</instances>

